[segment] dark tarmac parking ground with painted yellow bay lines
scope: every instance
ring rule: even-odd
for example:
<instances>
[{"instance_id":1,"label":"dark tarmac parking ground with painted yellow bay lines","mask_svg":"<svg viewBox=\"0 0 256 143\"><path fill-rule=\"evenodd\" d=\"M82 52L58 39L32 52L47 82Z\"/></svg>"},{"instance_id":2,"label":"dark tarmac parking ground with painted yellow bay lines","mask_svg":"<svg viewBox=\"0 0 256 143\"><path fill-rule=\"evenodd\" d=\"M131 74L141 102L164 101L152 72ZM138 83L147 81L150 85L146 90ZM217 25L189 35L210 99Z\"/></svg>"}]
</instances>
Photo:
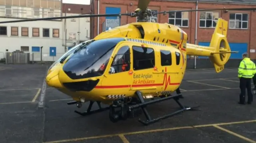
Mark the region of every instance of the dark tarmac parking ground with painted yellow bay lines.
<instances>
[{"instance_id":1,"label":"dark tarmac parking ground with painted yellow bay lines","mask_svg":"<svg viewBox=\"0 0 256 143\"><path fill-rule=\"evenodd\" d=\"M108 111L74 113L87 106L67 105L70 97L54 88L44 91L48 67L0 65L0 143L256 143L256 104L238 104L237 68L187 70L180 102L200 107L145 126L136 118L112 123ZM177 109L172 100L147 107L154 118Z\"/></svg>"}]
</instances>

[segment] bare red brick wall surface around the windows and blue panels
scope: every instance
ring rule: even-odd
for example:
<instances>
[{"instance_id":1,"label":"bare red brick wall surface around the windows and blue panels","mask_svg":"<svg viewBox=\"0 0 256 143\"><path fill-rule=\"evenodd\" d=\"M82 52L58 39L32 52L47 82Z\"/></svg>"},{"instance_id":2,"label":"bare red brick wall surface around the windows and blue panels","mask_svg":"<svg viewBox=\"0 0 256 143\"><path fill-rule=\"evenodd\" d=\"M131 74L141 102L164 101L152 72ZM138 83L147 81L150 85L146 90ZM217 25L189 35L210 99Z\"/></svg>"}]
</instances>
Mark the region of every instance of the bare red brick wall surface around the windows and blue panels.
<instances>
[{"instance_id":1,"label":"bare red brick wall surface around the windows and blue panels","mask_svg":"<svg viewBox=\"0 0 256 143\"><path fill-rule=\"evenodd\" d=\"M97 14L98 1L94 0L94 14ZM132 6L130 5L132 4ZM100 14L105 14L105 8L108 6L111 7L120 7L121 13L134 12L137 8L137 0L100 0ZM168 11L168 10L186 10L186 9L196 9L195 2L167 2L167 1L151 1L149 6L150 9L158 11ZM252 8L256 5L245 5L245 4L221 4L221 3L203 3L199 2L198 9L207 9L207 8ZM214 11L219 12L219 17L229 20L230 12L224 13L223 11ZM250 11L237 11L236 13L248 13L248 29L228 29L228 41L230 43L248 43L248 52L249 49L256 49L256 12ZM210 42L214 28L199 28L199 18L200 12L198 12L198 42ZM94 19L94 28L91 28L92 37L94 38L97 35L97 18ZM188 34L188 40L190 43L195 41L195 29L196 29L196 12L189 12L189 26L188 28L182 28ZM99 33L102 32L102 23L105 21L105 18L100 18L99 22ZM92 21L91 21L92 22ZM125 25L131 22L136 22L136 18L130 18L128 16L122 16L121 25ZM159 23L168 23L168 14L165 16L163 14L158 15ZM254 22L254 23L253 23ZM256 53L250 53L252 59L256 59Z\"/></svg>"}]
</instances>

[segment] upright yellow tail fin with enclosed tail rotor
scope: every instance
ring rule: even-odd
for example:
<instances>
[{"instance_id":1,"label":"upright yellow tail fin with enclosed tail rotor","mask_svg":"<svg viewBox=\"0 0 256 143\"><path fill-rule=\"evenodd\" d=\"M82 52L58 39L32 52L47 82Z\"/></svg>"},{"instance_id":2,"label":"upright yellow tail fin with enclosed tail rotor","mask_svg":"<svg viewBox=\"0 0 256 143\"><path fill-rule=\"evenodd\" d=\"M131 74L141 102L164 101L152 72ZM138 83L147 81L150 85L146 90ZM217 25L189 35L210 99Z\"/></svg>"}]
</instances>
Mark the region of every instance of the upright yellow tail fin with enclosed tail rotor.
<instances>
[{"instance_id":1,"label":"upright yellow tail fin with enclosed tail rotor","mask_svg":"<svg viewBox=\"0 0 256 143\"><path fill-rule=\"evenodd\" d=\"M212 34L212 40L210 47L215 48L211 53L210 60L214 64L216 72L221 72L224 69L224 65L230 58L231 52L230 46L227 40L228 22L221 18L218 19L214 33Z\"/></svg>"}]
</instances>

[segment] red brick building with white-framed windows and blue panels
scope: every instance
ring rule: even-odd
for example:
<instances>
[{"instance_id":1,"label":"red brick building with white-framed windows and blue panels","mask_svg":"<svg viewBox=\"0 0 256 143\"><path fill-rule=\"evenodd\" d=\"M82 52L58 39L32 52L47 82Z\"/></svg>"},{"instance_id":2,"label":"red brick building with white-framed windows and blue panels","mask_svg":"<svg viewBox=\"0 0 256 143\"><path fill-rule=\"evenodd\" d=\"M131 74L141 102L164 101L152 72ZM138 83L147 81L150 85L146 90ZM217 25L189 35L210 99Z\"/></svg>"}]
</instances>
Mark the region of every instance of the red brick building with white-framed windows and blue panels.
<instances>
[{"instance_id":1,"label":"red brick building with white-framed windows and blue panels","mask_svg":"<svg viewBox=\"0 0 256 143\"><path fill-rule=\"evenodd\" d=\"M255 0L198 0L198 9L207 8L256 8ZM254 1L254 2L253 2ZM138 0L99 0L100 14L114 13L130 13L137 8ZM98 13L98 0L91 0L92 14ZM157 11L168 10L187 10L196 9L196 0L161 0L151 1L148 8ZM199 45L209 45L217 18L223 18L229 22L228 41L232 51L239 51L239 54L232 54L231 59L241 59L241 53L256 49L256 12L253 11L206 11L198 12L198 26L196 28L196 12L182 12L176 14L159 14L156 18L152 18L159 23L169 23L179 25L188 34L189 43L195 43L195 32L197 30L197 42ZM104 31L105 17L99 18L99 27L97 25L98 18L91 19L91 34L94 38ZM136 22L136 18L122 16L120 25ZM250 53L252 59L256 59L256 53Z\"/></svg>"}]
</instances>

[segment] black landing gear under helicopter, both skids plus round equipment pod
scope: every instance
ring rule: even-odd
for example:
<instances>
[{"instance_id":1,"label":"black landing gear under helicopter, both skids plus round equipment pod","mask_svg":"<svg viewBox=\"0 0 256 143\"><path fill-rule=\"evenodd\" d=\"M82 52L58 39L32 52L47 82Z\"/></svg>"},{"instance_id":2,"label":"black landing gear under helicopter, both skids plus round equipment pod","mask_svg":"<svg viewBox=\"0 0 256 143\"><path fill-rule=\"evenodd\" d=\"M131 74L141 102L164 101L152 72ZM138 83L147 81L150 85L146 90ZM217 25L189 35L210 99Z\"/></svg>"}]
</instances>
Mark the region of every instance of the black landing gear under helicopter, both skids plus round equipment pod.
<instances>
[{"instance_id":1,"label":"black landing gear under helicopter, both skids plus round equipment pod","mask_svg":"<svg viewBox=\"0 0 256 143\"><path fill-rule=\"evenodd\" d=\"M182 96L182 94L178 94L178 95L170 95L169 94L168 96L162 96L159 99L154 99L154 100L151 100L148 102L144 101L144 98L140 91L136 91L135 95L137 96L137 98L121 98L118 100L114 100L113 104L106 108L102 108L100 105L100 102L97 102L99 109L92 110L92 111L91 111L91 108L92 108L92 105L94 104L94 102L90 101L90 104L89 104L86 112L78 112L78 111L74 111L74 112L81 116L87 116L90 114L95 114L98 112L110 110L109 118L110 118L110 121L112 121L113 123L115 123L119 120L126 120L128 118L134 118L136 116L139 116L143 112L144 115L146 116L146 121L142 121L141 119L139 119L138 121L144 125L149 125L149 124L155 123L157 121L160 121L161 119L166 119L166 118L175 116L177 114L180 114L184 111L194 110L195 108L200 107L200 106L188 107L188 106L182 105L179 101L180 98L184 98ZM176 112L166 114L164 116L160 116L158 118L150 117L150 115L148 114L148 111L146 110L147 105L154 104L157 102L162 102L164 100L170 100L170 99L173 99L180 106L181 109ZM77 101L68 102L67 104L68 105L76 104L76 106L78 108L80 108L82 106L81 102L77 102Z\"/></svg>"}]
</instances>

